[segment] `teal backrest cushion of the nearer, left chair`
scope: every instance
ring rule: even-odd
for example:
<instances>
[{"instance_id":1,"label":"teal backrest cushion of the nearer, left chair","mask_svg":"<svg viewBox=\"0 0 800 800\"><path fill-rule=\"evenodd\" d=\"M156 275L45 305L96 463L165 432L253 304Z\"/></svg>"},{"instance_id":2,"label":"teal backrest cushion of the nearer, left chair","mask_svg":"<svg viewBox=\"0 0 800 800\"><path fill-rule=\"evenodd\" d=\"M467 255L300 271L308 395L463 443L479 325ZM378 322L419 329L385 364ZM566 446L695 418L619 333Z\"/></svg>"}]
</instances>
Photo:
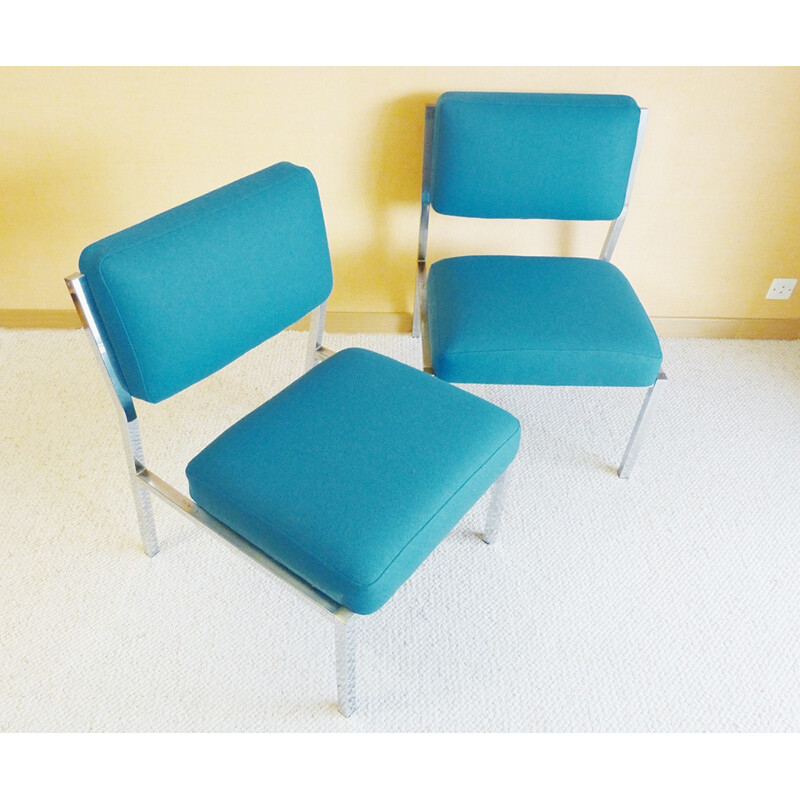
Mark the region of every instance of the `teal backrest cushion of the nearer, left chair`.
<instances>
[{"instance_id":1,"label":"teal backrest cushion of the nearer, left chair","mask_svg":"<svg viewBox=\"0 0 800 800\"><path fill-rule=\"evenodd\" d=\"M95 242L80 270L128 391L153 403L301 319L333 280L316 182L288 162Z\"/></svg>"}]
</instances>

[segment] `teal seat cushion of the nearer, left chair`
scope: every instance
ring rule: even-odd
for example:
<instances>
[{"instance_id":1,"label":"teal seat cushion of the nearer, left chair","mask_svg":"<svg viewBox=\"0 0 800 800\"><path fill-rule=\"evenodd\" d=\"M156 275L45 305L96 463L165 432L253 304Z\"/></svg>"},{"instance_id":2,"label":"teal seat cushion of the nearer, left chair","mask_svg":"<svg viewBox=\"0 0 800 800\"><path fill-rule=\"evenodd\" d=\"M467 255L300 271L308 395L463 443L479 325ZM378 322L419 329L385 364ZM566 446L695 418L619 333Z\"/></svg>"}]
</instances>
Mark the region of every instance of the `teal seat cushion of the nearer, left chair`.
<instances>
[{"instance_id":1,"label":"teal seat cushion of the nearer, left chair","mask_svg":"<svg viewBox=\"0 0 800 800\"><path fill-rule=\"evenodd\" d=\"M376 353L343 350L186 469L191 496L360 614L382 606L505 470L517 420Z\"/></svg>"}]
</instances>

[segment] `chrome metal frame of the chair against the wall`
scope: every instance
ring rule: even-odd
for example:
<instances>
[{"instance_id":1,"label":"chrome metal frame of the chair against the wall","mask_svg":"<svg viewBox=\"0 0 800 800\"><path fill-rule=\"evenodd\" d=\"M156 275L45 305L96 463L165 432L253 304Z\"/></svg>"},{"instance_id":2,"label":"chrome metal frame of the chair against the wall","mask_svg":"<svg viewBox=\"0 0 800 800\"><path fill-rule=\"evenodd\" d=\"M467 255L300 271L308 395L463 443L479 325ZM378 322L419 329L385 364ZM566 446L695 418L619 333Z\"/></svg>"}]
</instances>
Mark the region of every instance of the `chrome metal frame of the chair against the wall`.
<instances>
[{"instance_id":1,"label":"chrome metal frame of the chair against the wall","mask_svg":"<svg viewBox=\"0 0 800 800\"><path fill-rule=\"evenodd\" d=\"M425 106L425 133L422 155L422 196L421 196L421 211L419 223L419 243L417 248L417 273L416 283L414 287L414 316L412 323L411 335L414 338L421 339L422 344L422 368L425 372L433 375L433 365L431 360L431 345L430 336L428 331L428 309L427 309L427 280L428 280L428 231L430 223L431 212L431 159L433 153L433 125L434 114L436 106L427 104ZM640 109L639 128L636 134L636 146L633 152L633 159L631 162L631 169L628 176L628 185L625 191L625 201L622 206L622 211L619 216L612 220L605 241L603 249L600 253L600 258L603 261L610 261L614 249L619 241L620 234L622 233L622 226L625 224L625 218L628 214L628 206L630 204L631 192L633 191L633 180L636 175L636 168L639 163L639 156L641 154L642 142L644 140L644 132L647 126L648 109ZM653 410L660 401L667 383L667 376L663 371L659 371L658 377L652 386L647 388L644 401L642 402L639 416L634 425L633 432L625 447L625 453L620 462L620 467L617 475L620 478L627 479L633 472L634 464L639 456L642 443L649 428L652 419Z\"/></svg>"}]
</instances>

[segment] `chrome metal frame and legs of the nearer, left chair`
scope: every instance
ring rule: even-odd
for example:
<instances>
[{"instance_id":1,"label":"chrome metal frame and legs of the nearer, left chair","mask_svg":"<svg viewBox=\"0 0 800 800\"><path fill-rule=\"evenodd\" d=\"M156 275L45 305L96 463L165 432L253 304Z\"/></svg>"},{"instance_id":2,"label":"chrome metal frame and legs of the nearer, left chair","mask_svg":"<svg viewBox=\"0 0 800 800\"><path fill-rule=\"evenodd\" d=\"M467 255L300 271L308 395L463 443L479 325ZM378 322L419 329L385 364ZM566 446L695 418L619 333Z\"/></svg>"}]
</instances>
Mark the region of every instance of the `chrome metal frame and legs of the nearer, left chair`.
<instances>
[{"instance_id":1,"label":"chrome metal frame and legs of the nearer, left chair","mask_svg":"<svg viewBox=\"0 0 800 800\"><path fill-rule=\"evenodd\" d=\"M152 494L196 524L215 533L234 550L249 557L251 561L255 561L264 570L295 589L314 608L325 612L334 622L337 705L342 715L351 716L356 708L356 640L353 618L357 615L254 547L247 539L204 511L191 498L145 466L141 430L133 398L125 386L122 371L108 342L107 333L88 290L86 278L80 273L75 273L65 281L81 323L87 331L92 351L102 366L101 372L105 376L109 391L117 400L115 406L119 412L126 463L145 553L151 558L158 553L158 538L150 497ZM310 315L306 371L334 354L333 350L322 345L324 328L325 303L322 303ZM503 476L495 481L493 500L487 518L486 536L489 537L487 541L493 539L497 532L502 513L502 487Z\"/></svg>"}]
</instances>

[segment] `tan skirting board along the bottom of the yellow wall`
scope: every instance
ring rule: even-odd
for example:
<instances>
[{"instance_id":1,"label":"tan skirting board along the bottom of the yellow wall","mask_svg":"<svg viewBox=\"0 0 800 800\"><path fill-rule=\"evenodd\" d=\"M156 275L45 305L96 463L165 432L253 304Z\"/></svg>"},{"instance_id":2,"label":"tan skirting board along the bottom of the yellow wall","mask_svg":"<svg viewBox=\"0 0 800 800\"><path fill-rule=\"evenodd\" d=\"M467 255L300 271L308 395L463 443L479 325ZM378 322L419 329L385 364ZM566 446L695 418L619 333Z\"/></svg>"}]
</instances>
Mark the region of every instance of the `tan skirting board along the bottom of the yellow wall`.
<instances>
[{"instance_id":1,"label":"tan skirting board along the bottom of the yellow wall","mask_svg":"<svg viewBox=\"0 0 800 800\"><path fill-rule=\"evenodd\" d=\"M800 319L736 319L653 317L659 336L675 339L800 339ZM0 328L79 328L74 311L0 309ZM292 326L308 328L307 320ZM329 311L330 333L410 333L411 314L405 312Z\"/></svg>"}]
</instances>

